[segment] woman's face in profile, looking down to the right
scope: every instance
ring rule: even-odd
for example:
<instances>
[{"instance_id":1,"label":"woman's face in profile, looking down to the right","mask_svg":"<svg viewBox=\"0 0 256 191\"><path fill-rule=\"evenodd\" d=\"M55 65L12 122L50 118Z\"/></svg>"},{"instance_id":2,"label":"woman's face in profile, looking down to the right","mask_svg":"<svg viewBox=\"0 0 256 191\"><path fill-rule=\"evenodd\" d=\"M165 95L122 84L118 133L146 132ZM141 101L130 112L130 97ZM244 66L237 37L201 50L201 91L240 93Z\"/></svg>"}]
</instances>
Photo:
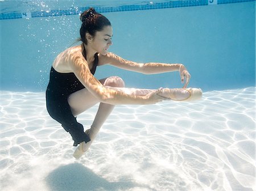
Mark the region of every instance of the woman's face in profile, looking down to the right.
<instances>
[{"instance_id":1,"label":"woman's face in profile, looking down to the right","mask_svg":"<svg viewBox=\"0 0 256 191\"><path fill-rule=\"evenodd\" d=\"M106 26L102 31L97 31L91 41L92 48L96 52L106 55L109 46L112 45L113 30L111 26Z\"/></svg>"}]
</instances>

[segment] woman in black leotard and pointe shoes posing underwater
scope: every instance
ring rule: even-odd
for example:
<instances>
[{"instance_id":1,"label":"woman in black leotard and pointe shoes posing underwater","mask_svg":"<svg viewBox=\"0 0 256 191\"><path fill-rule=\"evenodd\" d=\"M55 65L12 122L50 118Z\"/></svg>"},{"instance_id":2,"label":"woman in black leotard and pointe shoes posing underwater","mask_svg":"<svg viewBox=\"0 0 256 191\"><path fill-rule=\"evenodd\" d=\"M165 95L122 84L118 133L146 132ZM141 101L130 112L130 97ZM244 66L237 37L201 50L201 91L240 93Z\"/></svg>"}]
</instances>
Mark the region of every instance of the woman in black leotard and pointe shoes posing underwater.
<instances>
[{"instance_id":1,"label":"woman in black leotard and pointe shoes posing underwater","mask_svg":"<svg viewBox=\"0 0 256 191\"><path fill-rule=\"evenodd\" d=\"M112 26L105 16L93 8L80 16L82 44L64 50L52 64L49 84L46 91L47 110L50 116L60 122L68 131L74 144L80 144L78 151L88 149L98 130L117 104L154 104L162 100L191 100L201 96L201 91L187 88L190 74L182 64L136 63L108 52L112 45ZM179 71L183 89L161 88L140 90L124 88L119 77L97 80L93 74L97 66L110 64L121 69L144 74ZM196 92L196 93L195 93ZM195 96L198 94L199 96ZM90 129L84 128L76 116L93 105L100 103ZM80 156L80 154L79 154Z\"/></svg>"}]
</instances>

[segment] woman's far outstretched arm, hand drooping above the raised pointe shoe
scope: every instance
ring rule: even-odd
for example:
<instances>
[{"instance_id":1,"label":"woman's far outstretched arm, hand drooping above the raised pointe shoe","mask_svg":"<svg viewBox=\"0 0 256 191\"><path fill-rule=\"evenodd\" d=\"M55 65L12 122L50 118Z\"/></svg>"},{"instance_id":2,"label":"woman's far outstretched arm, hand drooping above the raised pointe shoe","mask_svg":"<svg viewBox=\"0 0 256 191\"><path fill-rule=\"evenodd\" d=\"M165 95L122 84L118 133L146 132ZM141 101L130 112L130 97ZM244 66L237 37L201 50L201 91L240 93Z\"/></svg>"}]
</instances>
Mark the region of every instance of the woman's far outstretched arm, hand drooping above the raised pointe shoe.
<instances>
[{"instance_id":1,"label":"woman's far outstretched arm, hand drooping above the raised pointe shoe","mask_svg":"<svg viewBox=\"0 0 256 191\"><path fill-rule=\"evenodd\" d=\"M137 63L133 61L125 60L114 53L108 53L106 56L102 57L102 65L104 63L109 63L110 65L119 67L121 69L136 71L142 74L159 74L168 73L171 71L179 71L181 83L184 83L183 88L188 86L191 75L188 73L187 69L182 63ZM104 62L104 63L103 63Z\"/></svg>"}]
</instances>

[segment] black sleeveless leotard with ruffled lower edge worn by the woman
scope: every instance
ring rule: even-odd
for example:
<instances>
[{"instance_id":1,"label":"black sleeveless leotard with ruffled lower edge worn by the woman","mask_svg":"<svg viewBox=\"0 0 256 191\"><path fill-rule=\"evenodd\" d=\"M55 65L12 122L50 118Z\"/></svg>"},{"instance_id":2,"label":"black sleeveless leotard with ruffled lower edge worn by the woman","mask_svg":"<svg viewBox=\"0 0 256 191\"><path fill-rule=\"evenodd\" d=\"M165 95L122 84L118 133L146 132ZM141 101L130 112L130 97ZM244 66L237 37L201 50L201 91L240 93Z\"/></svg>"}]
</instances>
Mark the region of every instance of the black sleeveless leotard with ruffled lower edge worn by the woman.
<instances>
[{"instance_id":1,"label":"black sleeveless leotard with ruffled lower edge worn by the woman","mask_svg":"<svg viewBox=\"0 0 256 191\"><path fill-rule=\"evenodd\" d=\"M86 59L86 53L83 52L83 55ZM97 65L98 56L96 53L93 67L90 70L92 74L95 73ZM60 122L61 126L71 134L75 141L73 146L77 146L83 141L90 141L89 136L84 133L84 127L76 121L76 117L73 116L68 104L68 96L82 88L85 87L74 73L59 73L51 67L49 84L46 90L47 111L53 119Z\"/></svg>"}]
</instances>

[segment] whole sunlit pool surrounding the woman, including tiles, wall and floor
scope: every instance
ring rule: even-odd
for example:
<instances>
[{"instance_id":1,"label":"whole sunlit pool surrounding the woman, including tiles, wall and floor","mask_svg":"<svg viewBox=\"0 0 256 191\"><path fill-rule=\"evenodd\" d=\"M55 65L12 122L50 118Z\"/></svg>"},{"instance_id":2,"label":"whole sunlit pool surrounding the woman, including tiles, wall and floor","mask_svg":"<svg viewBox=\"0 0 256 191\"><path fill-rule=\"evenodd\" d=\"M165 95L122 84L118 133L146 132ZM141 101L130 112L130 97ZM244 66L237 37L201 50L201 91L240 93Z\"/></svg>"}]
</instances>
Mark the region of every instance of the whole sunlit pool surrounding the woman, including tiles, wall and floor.
<instances>
[{"instance_id":1,"label":"whole sunlit pool surrounding the woman, including tiles, wall and floor","mask_svg":"<svg viewBox=\"0 0 256 191\"><path fill-rule=\"evenodd\" d=\"M93 6L113 26L110 52L183 63L200 101L117 105L81 159L46 110L54 58ZM256 190L255 1L0 1L1 190ZM177 72L111 66L126 87L182 87ZM98 104L78 117L88 127Z\"/></svg>"}]
</instances>

